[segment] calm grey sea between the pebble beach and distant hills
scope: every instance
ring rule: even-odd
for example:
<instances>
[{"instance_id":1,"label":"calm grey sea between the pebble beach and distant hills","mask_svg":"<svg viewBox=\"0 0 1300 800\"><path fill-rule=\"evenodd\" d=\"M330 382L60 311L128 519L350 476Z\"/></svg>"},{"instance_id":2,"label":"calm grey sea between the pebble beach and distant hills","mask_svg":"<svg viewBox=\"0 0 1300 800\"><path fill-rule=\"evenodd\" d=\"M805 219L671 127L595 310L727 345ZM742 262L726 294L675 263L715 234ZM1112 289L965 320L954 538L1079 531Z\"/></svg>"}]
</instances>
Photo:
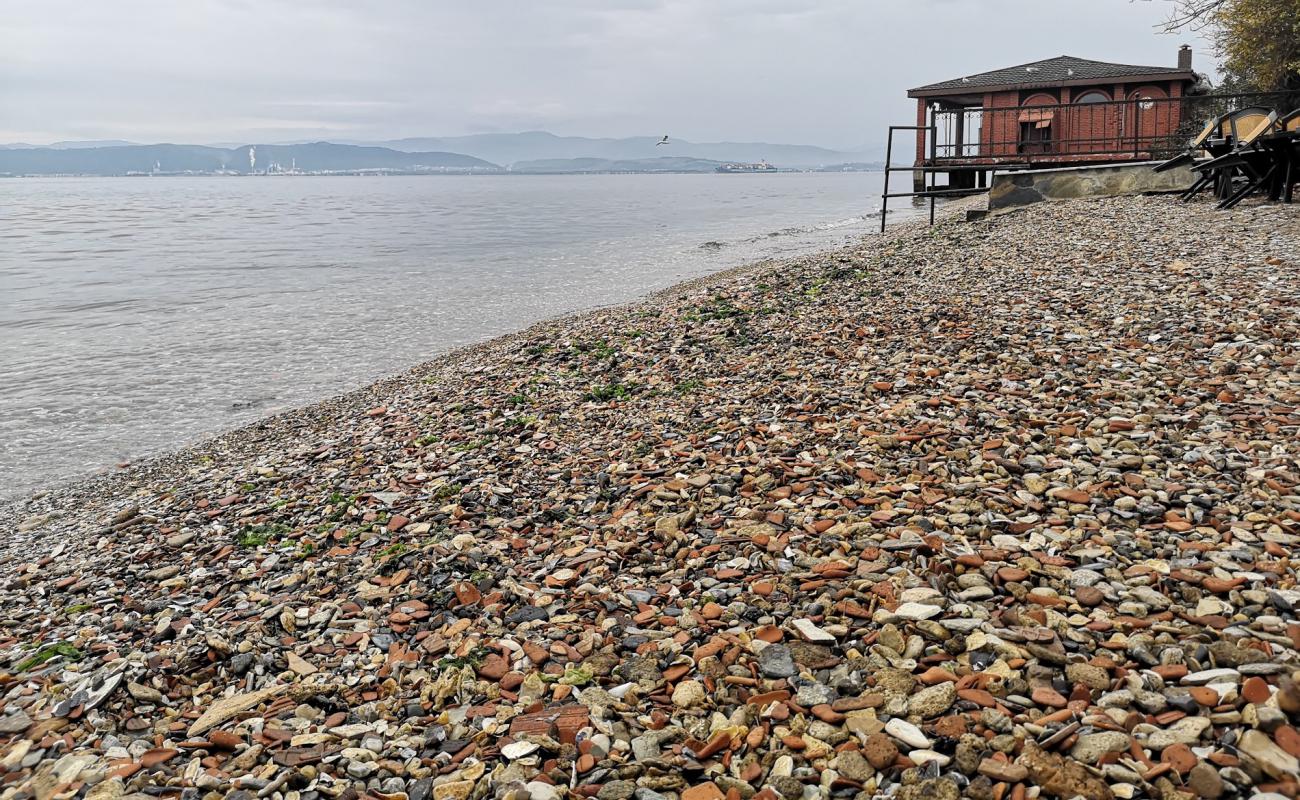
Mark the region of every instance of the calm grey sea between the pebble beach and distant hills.
<instances>
[{"instance_id":1,"label":"calm grey sea between the pebble beach and distant hills","mask_svg":"<svg viewBox=\"0 0 1300 800\"><path fill-rule=\"evenodd\" d=\"M0 497L540 319L841 243L875 230L880 181L0 180Z\"/></svg>"}]
</instances>

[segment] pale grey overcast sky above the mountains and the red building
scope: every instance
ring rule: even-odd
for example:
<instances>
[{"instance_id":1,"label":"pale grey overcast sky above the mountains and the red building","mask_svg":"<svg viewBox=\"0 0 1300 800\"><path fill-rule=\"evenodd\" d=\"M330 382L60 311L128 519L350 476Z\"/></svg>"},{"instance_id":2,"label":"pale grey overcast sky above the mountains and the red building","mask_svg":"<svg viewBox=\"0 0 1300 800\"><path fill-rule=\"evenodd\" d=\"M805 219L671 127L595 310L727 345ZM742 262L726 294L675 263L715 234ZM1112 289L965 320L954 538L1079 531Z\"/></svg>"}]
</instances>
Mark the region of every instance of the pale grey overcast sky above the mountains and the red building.
<instances>
[{"instance_id":1,"label":"pale grey overcast sky above the mountains and the red building","mask_svg":"<svg viewBox=\"0 0 1300 800\"><path fill-rule=\"evenodd\" d=\"M855 148L905 92L1069 53L1173 66L1167 0L6 0L0 142L550 130Z\"/></svg>"}]
</instances>

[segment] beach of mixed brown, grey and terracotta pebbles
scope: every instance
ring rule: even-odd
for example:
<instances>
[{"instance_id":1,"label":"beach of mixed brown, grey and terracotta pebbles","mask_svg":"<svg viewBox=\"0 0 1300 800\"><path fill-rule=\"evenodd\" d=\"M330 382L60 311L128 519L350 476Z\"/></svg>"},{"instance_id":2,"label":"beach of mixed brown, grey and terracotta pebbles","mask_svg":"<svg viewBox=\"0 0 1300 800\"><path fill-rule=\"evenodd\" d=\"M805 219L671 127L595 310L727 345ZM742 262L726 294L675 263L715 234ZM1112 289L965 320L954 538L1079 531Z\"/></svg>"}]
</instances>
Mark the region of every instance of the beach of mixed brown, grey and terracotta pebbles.
<instances>
[{"instance_id":1,"label":"beach of mixed brown, grey and terracotta pebbles","mask_svg":"<svg viewBox=\"0 0 1300 800\"><path fill-rule=\"evenodd\" d=\"M1300 792L1300 206L890 226L0 506L0 800Z\"/></svg>"}]
</instances>

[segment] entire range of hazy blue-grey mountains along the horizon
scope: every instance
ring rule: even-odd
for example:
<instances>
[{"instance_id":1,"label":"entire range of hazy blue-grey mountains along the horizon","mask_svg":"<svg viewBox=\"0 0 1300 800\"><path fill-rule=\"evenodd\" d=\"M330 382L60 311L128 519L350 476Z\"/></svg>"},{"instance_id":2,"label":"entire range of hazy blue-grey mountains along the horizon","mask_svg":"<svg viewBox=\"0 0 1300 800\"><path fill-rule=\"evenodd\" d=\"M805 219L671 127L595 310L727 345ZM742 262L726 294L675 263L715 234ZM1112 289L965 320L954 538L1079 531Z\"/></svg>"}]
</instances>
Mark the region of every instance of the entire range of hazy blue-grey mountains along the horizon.
<instances>
[{"instance_id":1,"label":"entire range of hazy blue-grey mountains along the horizon","mask_svg":"<svg viewBox=\"0 0 1300 800\"><path fill-rule=\"evenodd\" d=\"M0 174L186 174L264 172L712 172L723 163L767 161L783 169L861 168L863 152L809 144L696 143L656 137L590 139L543 131L412 138L390 142L294 142L256 146L133 144L120 140L0 146ZM250 160L250 150L255 160Z\"/></svg>"}]
</instances>

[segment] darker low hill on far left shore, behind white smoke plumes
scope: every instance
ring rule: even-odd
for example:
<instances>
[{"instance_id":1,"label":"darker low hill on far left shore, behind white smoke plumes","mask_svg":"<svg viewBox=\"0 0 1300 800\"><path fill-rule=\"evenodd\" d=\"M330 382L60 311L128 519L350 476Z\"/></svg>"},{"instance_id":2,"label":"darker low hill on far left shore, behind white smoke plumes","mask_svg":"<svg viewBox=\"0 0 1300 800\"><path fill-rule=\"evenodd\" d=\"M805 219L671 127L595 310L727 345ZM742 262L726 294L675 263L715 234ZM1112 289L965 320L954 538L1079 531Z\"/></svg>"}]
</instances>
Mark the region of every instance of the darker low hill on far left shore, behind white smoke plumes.
<instances>
[{"instance_id":1,"label":"darker low hill on far left shore, behind white smoke plumes","mask_svg":"<svg viewBox=\"0 0 1300 800\"><path fill-rule=\"evenodd\" d=\"M352 144L257 144L256 165L250 146L224 148L202 144L131 144L125 147L0 150L0 173L121 176L144 172L237 172L296 167L304 172L354 169L495 170L497 165L455 152L403 152Z\"/></svg>"}]
</instances>

